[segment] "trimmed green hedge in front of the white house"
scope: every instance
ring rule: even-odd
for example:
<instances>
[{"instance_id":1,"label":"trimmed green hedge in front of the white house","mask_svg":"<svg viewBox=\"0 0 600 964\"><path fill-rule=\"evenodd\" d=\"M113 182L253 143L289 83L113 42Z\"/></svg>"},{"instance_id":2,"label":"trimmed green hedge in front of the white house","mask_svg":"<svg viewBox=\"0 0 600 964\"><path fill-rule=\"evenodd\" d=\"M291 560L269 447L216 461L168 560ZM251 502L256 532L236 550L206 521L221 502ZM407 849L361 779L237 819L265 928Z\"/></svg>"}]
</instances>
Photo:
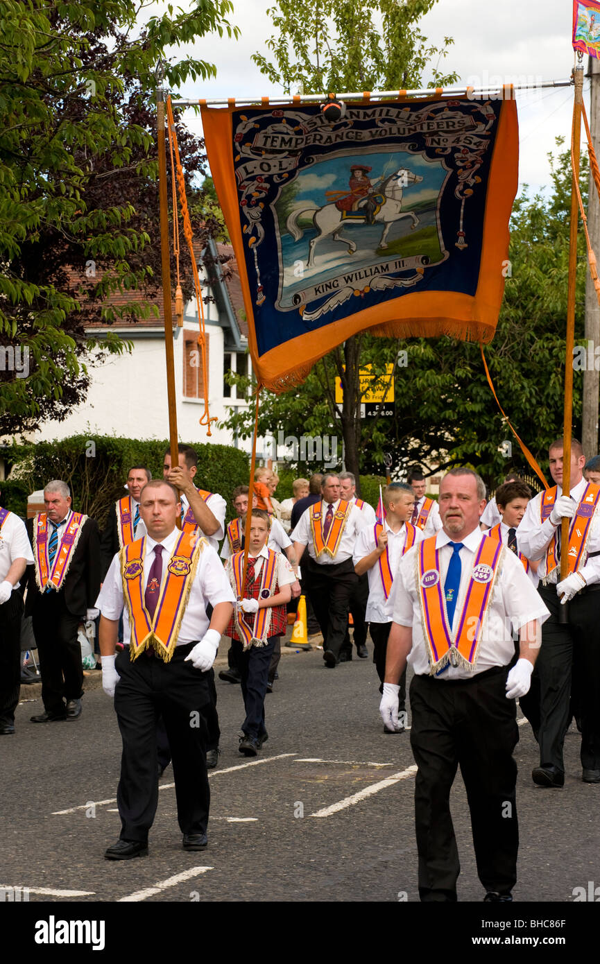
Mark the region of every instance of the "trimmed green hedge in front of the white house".
<instances>
[{"instance_id":1,"label":"trimmed green hedge in front of the white house","mask_svg":"<svg viewBox=\"0 0 600 964\"><path fill-rule=\"evenodd\" d=\"M15 466L18 478L0 483L0 488L3 492L5 487L10 490L14 511L24 515L22 502L26 506L29 493L43 489L51 479L63 479L71 490L73 507L92 516L101 526L112 503L125 494L124 484L131 466L148 466L152 478L162 478L167 446L166 441L94 435L14 445L6 457ZM196 484L223 495L228 503L228 519L232 518L232 491L236 485L248 482L248 456L231 445L195 443L194 448L198 452Z\"/></svg>"}]
</instances>

